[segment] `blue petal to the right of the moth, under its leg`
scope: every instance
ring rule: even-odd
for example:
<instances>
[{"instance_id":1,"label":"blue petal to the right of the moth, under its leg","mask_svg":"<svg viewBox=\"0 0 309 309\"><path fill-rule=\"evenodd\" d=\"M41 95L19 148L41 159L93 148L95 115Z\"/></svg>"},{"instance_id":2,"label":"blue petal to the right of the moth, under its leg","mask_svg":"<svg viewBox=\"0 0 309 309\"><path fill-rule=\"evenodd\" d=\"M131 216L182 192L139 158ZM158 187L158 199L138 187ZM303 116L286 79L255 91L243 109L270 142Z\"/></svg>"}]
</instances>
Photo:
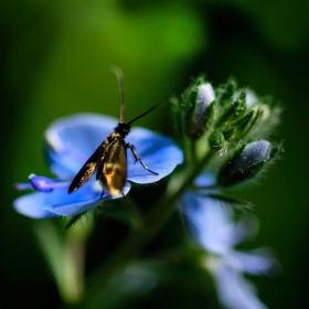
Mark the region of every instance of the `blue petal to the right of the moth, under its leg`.
<instances>
[{"instance_id":1,"label":"blue petal to the right of the moth, under its leg","mask_svg":"<svg viewBox=\"0 0 309 309\"><path fill-rule=\"evenodd\" d=\"M153 183L170 174L183 161L182 151L168 137L153 134L142 128L134 128L127 142L135 146L141 161L153 174L139 163L128 149L128 180L136 183Z\"/></svg>"}]
</instances>

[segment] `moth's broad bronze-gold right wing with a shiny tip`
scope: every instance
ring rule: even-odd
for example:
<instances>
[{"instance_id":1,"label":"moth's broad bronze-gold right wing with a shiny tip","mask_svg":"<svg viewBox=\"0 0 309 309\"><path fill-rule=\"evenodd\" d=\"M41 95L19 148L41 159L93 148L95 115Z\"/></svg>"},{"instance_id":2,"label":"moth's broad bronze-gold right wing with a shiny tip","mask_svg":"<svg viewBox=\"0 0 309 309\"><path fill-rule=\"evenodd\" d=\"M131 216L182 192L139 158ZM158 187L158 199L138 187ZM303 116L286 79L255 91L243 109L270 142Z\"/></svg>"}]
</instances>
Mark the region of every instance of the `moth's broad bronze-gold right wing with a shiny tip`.
<instances>
[{"instance_id":1,"label":"moth's broad bronze-gold right wing with a shiny tip","mask_svg":"<svg viewBox=\"0 0 309 309\"><path fill-rule=\"evenodd\" d=\"M110 195L122 193L127 181L127 147L124 139L116 139L108 147L96 178Z\"/></svg>"}]
</instances>

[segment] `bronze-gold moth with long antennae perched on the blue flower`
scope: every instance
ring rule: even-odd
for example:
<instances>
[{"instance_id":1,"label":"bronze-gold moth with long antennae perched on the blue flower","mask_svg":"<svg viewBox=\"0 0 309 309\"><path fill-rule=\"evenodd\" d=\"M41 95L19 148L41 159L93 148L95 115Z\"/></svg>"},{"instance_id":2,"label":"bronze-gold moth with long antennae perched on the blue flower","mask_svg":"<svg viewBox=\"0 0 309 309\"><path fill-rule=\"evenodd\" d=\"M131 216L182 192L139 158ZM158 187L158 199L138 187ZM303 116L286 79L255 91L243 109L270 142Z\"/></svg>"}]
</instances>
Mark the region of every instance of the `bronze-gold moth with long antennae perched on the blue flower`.
<instances>
[{"instance_id":1,"label":"bronze-gold moth with long antennae perched on the blue flower","mask_svg":"<svg viewBox=\"0 0 309 309\"><path fill-rule=\"evenodd\" d=\"M135 146L126 142L125 140L127 135L130 132L131 124L146 116L152 109L158 107L158 105L151 107L129 122L125 122L125 94L122 72L120 71L120 68L114 68L114 71L118 79L121 99L119 124L115 128L115 131L107 136L107 138L100 143L100 146L95 150L95 152L77 172L71 185L68 187L68 193L78 190L96 171L96 180L100 181L104 188L102 196L105 191L107 191L110 195L122 194L125 196L124 188L127 181L128 149L131 150L136 161L138 161L147 171L153 174L158 174L142 163L140 157L135 150Z\"/></svg>"}]
</instances>

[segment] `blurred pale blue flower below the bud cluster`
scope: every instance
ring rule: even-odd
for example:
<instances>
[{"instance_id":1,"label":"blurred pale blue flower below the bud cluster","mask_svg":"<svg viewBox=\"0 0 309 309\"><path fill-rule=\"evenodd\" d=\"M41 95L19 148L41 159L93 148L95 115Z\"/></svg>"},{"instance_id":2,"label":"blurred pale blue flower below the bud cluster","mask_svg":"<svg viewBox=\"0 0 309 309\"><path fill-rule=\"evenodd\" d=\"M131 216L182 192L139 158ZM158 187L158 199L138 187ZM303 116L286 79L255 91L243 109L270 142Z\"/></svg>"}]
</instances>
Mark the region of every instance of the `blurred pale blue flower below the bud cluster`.
<instances>
[{"instance_id":1,"label":"blurred pale blue flower below the bud cluster","mask_svg":"<svg viewBox=\"0 0 309 309\"><path fill-rule=\"evenodd\" d=\"M198 182L212 184L205 175ZM256 224L249 228L245 221L235 223L228 209L190 191L182 198L180 210L189 235L209 253L202 264L214 278L221 303L228 309L267 308L244 274L265 275L276 266L275 259L266 249L239 252L234 248L255 232L252 226Z\"/></svg>"}]
</instances>

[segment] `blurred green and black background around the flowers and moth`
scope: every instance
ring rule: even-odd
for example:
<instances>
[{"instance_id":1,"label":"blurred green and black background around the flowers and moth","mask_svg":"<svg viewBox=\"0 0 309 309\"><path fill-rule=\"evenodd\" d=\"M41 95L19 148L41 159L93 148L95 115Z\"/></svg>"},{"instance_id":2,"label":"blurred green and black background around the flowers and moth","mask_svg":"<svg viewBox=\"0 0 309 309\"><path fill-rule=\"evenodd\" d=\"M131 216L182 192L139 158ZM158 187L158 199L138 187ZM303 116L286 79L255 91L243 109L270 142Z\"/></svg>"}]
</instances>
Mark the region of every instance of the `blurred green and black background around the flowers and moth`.
<instances>
[{"instance_id":1,"label":"blurred green and black background around the flowers and moth","mask_svg":"<svg viewBox=\"0 0 309 309\"><path fill-rule=\"evenodd\" d=\"M79 111L118 117L110 65L125 73L127 120L179 95L201 73L214 85L233 75L281 104L283 124L270 140L284 141L285 152L239 194L260 221L249 246L273 248L283 265L277 278L253 278L260 299L269 308L308 308L308 1L1 1L0 26L1 308L61 303L35 221L12 210L12 184L49 174L42 136L54 119ZM138 125L160 131L161 113ZM95 263L102 238L94 239Z\"/></svg>"}]
</instances>

